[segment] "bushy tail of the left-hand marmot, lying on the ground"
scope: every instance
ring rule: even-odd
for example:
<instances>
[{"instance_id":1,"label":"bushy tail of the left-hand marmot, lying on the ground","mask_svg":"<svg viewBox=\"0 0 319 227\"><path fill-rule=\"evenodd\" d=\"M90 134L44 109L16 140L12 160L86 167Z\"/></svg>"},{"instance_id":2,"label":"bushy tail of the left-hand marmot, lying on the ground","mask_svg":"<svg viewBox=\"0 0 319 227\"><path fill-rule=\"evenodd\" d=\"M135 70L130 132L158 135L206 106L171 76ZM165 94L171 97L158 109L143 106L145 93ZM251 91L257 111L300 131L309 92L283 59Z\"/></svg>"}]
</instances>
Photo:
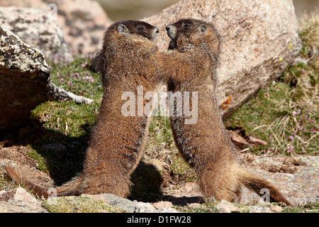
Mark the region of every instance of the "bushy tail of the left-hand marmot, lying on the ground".
<instances>
[{"instance_id":1,"label":"bushy tail of the left-hand marmot, lying on the ground","mask_svg":"<svg viewBox=\"0 0 319 227\"><path fill-rule=\"evenodd\" d=\"M81 194L81 192L79 192L80 185L82 183L81 177L74 177L70 182L63 184L60 187L44 188L33 184L26 179L23 179L20 170L18 170L16 167L12 167L10 165L5 165L4 167L11 179L13 179L16 183L23 185L31 192L33 192L33 194L36 194L38 196L44 196L45 198L47 198L51 194L56 196L70 196Z\"/></svg>"}]
</instances>

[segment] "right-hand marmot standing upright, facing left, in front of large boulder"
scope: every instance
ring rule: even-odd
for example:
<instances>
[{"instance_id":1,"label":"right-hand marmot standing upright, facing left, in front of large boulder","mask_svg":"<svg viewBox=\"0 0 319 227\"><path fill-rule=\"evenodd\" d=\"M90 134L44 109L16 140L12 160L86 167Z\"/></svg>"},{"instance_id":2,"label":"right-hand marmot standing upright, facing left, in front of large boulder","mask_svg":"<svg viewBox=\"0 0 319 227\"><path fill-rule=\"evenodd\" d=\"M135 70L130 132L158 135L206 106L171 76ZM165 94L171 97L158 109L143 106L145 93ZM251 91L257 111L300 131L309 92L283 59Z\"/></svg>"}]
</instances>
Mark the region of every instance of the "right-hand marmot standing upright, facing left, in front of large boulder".
<instances>
[{"instance_id":1,"label":"right-hand marmot standing upright, facing left, in front of large boulder","mask_svg":"<svg viewBox=\"0 0 319 227\"><path fill-rule=\"evenodd\" d=\"M242 187L247 187L257 194L268 189L271 202L290 205L276 187L240 165L237 150L225 130L216 98L220 56L220 35L216 28L204 21L181 19L167 26L167 35L172 39L169 49L184 52L184 61L191 66L182 74L171 72L169 91L198 92L196 123L186 124L186 116L170 117L174 140L181 155L194 167L206 199L238 201ZM169 62L161 64L159 67L167 74L170 68L165 65ZM194 105L191 104L192 108Z\"/></svg>"}]
</instances>

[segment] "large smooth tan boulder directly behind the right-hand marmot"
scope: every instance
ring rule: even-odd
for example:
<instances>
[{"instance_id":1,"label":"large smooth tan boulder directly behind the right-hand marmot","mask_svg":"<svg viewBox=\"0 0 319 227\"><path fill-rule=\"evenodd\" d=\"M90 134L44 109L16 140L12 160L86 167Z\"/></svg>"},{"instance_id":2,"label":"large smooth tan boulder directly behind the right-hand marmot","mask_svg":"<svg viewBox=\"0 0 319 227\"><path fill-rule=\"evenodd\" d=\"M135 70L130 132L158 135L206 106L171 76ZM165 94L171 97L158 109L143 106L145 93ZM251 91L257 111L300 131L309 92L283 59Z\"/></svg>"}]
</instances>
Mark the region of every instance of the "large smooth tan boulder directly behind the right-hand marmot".
<instances>
[{"instance_id":1,"label":"large smooth tan boulder directly behind the right-hand marmot","mask_svg":"<svg viewBox=\"0 0 319 227\"><path fill-rule=\"evenodd\" d=\"M279 77L301 50L292 0L181 0L142 20L159 27L157 45L167 50L165 26L181 18L212 22L223 38L217 95L220 104L226 101L224 118Z\"/></svg>"}]
</instances>

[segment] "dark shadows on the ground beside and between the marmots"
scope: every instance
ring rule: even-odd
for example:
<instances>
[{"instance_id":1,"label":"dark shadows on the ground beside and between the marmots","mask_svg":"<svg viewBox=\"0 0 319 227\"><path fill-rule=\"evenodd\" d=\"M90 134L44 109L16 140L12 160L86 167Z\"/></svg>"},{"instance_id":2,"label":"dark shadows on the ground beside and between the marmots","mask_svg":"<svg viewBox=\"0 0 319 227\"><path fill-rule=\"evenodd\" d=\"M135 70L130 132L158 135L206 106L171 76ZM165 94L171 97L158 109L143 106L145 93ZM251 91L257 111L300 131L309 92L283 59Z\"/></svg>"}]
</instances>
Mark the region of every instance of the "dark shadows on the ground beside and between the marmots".
<instances>
[{"instance_id":1,"label":"dark shadows on the ground beside and between the marmots","mask_svg":"<svg viewBox=\"0 0 319 227\"><path fill-rule=\"evenodd\" d=\"M84 135L71 137L60 131L43 129L42 124L35 121L28 126L0 131L0 149L28 146L32 149L32 155L29 156L38 162L37 168L47 172L55 185L59 186L82 171L92 127L91 124L85 124L82 126L86 132ZM141 160L131 175L131 182L133 183L129 196L131 200L154 202L163 196L160 189L163 182L162 175L154 165Z\"/></svg>"}]
</instances>

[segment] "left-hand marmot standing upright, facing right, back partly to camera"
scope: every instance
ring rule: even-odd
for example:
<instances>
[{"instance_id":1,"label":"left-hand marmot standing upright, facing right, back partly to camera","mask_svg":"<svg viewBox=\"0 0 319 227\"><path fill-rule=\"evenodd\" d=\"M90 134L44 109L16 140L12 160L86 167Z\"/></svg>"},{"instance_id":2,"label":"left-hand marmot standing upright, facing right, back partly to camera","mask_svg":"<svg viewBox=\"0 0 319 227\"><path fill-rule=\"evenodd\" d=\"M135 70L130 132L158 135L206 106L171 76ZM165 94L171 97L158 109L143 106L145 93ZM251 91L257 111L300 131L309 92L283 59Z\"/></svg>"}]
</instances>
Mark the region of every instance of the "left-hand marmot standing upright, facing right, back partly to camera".
<instances>
[{"instance_id":1,"label":"left-hand marmot standing upright, facing right, back partly to camera","mask_svg":"<svg viewBox=\"0 0 319 227\"><path fill-rule=\"evenodd\" d=\"M152 42L158 28L143 21L121 21L111 25L103 37L103 99L99 116L86 150L83 171L71 181L55 187L57 196L110 193L126 197L130 190L130 174L141 157L148 133L150 117L133 110L123 116L126 100L123 92L138 94L155 91L159 77L155 58L157 51ZM127 97L126 97L127 98ZM138 106L142 107L143 106ZM16 182L18 173L9 166L6 170ZM26 186L34 186L24 182ZM47 189L35 187L35 194L48 196Z\"/></svg>"}]
</instances>

